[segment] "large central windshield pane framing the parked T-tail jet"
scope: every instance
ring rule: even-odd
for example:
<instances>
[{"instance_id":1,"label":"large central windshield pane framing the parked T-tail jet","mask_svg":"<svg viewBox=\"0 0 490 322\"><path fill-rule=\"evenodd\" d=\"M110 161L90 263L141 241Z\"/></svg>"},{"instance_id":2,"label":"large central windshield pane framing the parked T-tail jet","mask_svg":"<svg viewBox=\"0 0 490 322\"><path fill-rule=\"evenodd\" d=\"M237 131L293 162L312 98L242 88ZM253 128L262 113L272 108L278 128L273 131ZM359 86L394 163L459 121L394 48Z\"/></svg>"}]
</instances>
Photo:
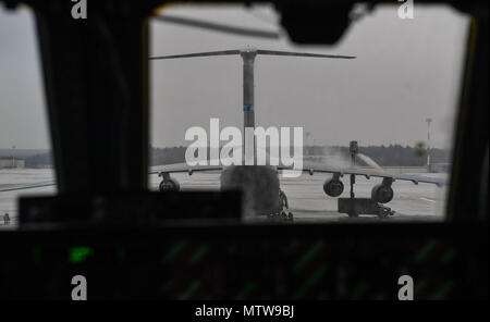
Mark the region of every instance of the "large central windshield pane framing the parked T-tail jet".
<instances>
[{"instance_id":1,"label":"large central windshield pane framing the parked T-tail jet","mask_svg":"<svg viewBox=\"0 0 490 322\"><path fill-rule=\"evenodd\" d=\"M197 164L203 168L222 168L192 176L170 172L172 181L163 188L174 188L176 183L181 190L223 189L232 182L249 195L245 202L255 205L250 198L264 195L257 190L264 186L246 186L243 179L236 184L230 179L233 171L225 171L230 169L224 159L233 153L211 152L213 145L218 151L226 145L243 147L245 135L233 136L233 128L243 134L252 124L248 111L253 110L255 128L274 128L279 134L265 140L268 153L273 154L273 147L281 145L284 128L290 131L291 154L295 154L295 147L302 147L302 162L290 162L290 168L303 169L303 173L286 177L279 172L279 191L287 200L282 210L291 212L295 221L348 219L353 207L362 207L360 216L363 212L378 216L388 211L393 214L390 219L443 219L448 186L434 183L449 183L468 18L442 5L418 5L413 20L400 18L397 10L397 5L378 5L366 15L357 14L335 46L293 44L270 5L175 5L161 11L150 23L150 57L156 58L150 60L150 166L168 170L162 165L180 163L173 169L185 170L195 164L189 161L201 158ZM363 8L356 7L354 13L359 12ZM193 20L199 26L188 23ZM203 22L279 33L279 38L224 33L203 27ZM223 50L238 52L157 59ZM272 55L260 50L355 59ZM244 76L245 51L255 51L252 86L246 85L249 75ZM245 87L254 89L252 104ZM229 129L223 133L223 128ZM256 136L255 151L260 146L257 140ZM354 158L352 141L358 147ZM245 164L244 151L236 151ZM219 159L216 163L213 157ZM282 153L277 157L279 162L266 164L287 161ZM355 169L354 195L348 171L335 177L338 169ZM369 175L372 173L381 176ZM336 178L343 185L340 191L335 191L339 184L332 186ZM151 189L162 188L157 175L149 182ZM270 196L275 198L274 194ZM359 199L355 205L348 201L353 196ZM381 202L369 201L375 199ZM339 212L340 208L343 211Z\"/></svg>"}]
</instances>

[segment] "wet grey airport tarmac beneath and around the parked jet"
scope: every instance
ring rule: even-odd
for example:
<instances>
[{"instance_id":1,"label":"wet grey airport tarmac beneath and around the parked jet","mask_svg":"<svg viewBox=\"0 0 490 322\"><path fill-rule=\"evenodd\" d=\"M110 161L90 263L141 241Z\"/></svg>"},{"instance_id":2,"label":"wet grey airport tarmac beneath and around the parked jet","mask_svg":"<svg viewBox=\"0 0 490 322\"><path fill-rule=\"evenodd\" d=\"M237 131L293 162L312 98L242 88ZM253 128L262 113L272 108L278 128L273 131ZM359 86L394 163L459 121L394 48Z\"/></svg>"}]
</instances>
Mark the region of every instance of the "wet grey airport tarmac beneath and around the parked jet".
<instances>
[{"instance_id":1,"label":"wet grey airport tarmac beneath and around the parked jet","mask_svg":"<svg viewBox=\"0 0 490 322\"><path fill-rule=\"evenodd\" d=\"M444 177L444 174L418 174L425 176ZM219 189L219 173L186 173L172 174L181 183L183 190ZM323 193L323 182L330 176L327 174L303 174L297 178L281 178L281 188L286 194L290 210L294 222L372 222L372 221L440 221L443 220L446 188L439 188L432 184L414 185L412 182L397 181L393 183L394 198L387 203L395 214L387 219L372 215L362 215L351 219L346 214L336 212L336 199ZM35 184L53 179L53 170L50 169L2 169L0 170L0 187ZM348 197L348 176L342 178L345 189L341 197ZM370 197L372 186L380 178L367 179L356 176L356 197ZM150 187L158 189L160 178L151 175ZM0 227L15 228L19 225L16 199L19 196L39 196L56 194L56 186L40 187L26 190L0 193ZM10 225L3 223L3 214L8 212L11 218Z\"/></svg>"}]
</instances>

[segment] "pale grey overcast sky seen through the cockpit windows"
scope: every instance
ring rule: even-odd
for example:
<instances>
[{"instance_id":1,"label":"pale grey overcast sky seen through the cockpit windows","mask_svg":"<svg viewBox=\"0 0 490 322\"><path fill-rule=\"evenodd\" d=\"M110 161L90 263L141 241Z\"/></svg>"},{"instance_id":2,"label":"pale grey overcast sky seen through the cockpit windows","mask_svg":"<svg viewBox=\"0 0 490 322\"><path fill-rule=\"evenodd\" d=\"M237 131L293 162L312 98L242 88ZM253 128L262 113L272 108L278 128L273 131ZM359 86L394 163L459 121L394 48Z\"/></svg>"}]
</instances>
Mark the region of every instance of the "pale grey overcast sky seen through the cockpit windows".
<instances>
[{"instance_id":1,"label":"pale grey overcast sky seen through the cockpit windows","mask_svg":"<svg viewBox=\"0 0 490 322\"><path fill-rule=\"evenodd\" d=\"M268 8L170 8L168 13L234 26L277 30ZM89 12L88 12L89 18ZM351 26L335 47L294 46L284 36L264 40L152 22L152 55L238 49L311 51L356 60L258 57L256 124L303 126L310 144L414 145L426 139L448 147L460 91L467 18L449 8L416 5L415 20L396 7L380 8ZM48 148L39 57L27 10L0 9L0 148ZM240 57L150 62L151 144L184 145L191 126L242 126Z\"/></svg>"}]
</instances>

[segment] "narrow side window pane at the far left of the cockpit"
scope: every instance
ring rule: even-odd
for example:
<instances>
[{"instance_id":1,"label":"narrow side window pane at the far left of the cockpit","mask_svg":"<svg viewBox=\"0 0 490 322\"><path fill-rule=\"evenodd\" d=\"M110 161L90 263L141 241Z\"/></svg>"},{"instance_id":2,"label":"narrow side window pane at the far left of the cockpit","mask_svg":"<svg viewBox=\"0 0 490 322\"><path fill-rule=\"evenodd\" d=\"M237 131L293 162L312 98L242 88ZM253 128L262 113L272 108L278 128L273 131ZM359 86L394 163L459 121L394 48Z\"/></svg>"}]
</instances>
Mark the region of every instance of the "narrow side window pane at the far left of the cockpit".
<instances>
[{"instance_id":1,"label":"narrow side window pane at the far left of the cockpit","mask_svg":"<svg viewBox=\"0 0 490 322\"><path fill-rule=\"evenodd\" d=\"M36 27L30 10L0 8L0 230L19 225L17 198L56 193ZM49 186L45 186L49 184ZM36 187L41 185L42 187ZM27 189L15 189L27 187Z\"/></svg>"}]
</instances>

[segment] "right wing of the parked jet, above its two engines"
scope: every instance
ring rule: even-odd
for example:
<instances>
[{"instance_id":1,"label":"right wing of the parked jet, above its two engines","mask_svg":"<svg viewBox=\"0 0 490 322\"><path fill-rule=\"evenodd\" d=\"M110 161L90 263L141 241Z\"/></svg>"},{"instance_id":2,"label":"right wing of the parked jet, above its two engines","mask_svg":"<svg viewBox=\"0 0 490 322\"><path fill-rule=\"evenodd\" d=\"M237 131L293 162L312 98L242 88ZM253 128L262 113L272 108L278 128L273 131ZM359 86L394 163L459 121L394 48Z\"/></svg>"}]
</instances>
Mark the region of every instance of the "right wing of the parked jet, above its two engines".
<instances>
[{"instance_id":1,"label":"right wing of the parked jet, above its two engines","mask_svg":"<svg viewBox=\"0 0 490 322\"><path fill-rule=\"evenodd\" d=\"M292 166L278 166L278 170L294 170ZM391 173L387 171L376 171L376 170L369 170L369 169L358 169L358 168L335 168L335 166L329 166L321 163L313 163L313 162L306 162L303 164L303 172L308 172L309 174L314 174L315 172L318 173L339 173L341 176L344 174L354 174L354 175L363 175L367 178L370 178L371 176L375 177L385 177L385 178L392 178L393 181L402 179L402 181L409 181L414 184L418 183L427 183L427 184L434 184L438 187L441 187L446 184L446 181L443 178L437 178L437 177L428 177L428 176L420 176L415 174L405 174L405 173Z\"/></svg>"}]
</instances>

